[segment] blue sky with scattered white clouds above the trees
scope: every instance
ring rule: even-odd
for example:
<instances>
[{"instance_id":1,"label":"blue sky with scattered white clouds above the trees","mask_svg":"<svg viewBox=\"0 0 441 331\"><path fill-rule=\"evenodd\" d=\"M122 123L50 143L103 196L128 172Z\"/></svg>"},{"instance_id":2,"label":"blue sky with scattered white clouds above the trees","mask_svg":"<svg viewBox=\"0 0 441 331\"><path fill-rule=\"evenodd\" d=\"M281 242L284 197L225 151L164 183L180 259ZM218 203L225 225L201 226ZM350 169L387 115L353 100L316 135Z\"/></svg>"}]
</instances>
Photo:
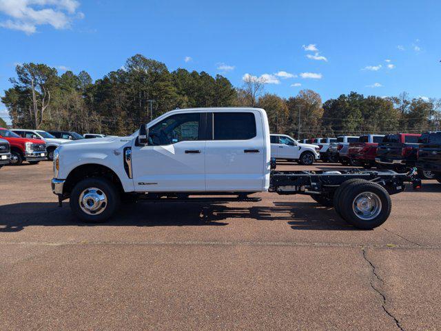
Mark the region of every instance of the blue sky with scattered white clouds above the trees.
<instances>
[{"instance_id":1,"label":"blue sky with scattered white clouds above the trees","mask_svg":"<svg viewBox=\"0 0 441 331\"><path fill-rule=\"evenodd\" d=\"M0 93L16 63L97 79L141 53L235 86L263 75L283 97L439 98L440 13L441 1L0 0Z\"/></svg>"}]
</instances>

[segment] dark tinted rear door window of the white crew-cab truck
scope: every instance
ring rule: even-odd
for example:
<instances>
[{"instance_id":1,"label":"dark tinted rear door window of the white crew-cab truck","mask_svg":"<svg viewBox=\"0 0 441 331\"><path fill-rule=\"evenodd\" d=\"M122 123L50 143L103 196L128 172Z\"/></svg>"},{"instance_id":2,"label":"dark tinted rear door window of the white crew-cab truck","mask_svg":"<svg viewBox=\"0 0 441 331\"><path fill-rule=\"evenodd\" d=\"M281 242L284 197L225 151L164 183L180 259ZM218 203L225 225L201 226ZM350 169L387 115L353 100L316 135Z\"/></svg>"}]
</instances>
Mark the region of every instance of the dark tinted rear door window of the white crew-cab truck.
<instances>
[{"instance_id":1,"label":"dark tinted rear door window of the white crew-cab truck","mask_svg":"<svg viewBox=\"0 0 441 331\"><path fill-rule=\"evenodd\" d=\"M214 112L214 140L248 140L256 137L256 118L252 112Z\"/></svg>"}]
</instances>

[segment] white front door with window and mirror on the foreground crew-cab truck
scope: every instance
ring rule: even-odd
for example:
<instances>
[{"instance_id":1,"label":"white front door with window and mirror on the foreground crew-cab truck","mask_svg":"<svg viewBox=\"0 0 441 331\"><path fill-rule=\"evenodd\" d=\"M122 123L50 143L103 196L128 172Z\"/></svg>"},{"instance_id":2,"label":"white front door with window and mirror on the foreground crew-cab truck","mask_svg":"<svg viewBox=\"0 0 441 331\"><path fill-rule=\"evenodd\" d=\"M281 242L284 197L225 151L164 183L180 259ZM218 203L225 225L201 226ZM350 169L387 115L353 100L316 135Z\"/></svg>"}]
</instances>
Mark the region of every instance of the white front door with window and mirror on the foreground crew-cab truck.
<instances>
[{"instance_id":1,"label":"white front door with window and mirror on the foreground crew-cab truck","mask_svg":"<svg viewBox=\"0 0 441 331\"><path fill-rule=\"evenodd\" d=\"M137 192L205 191L205 112L170 114L149 128L147 146L132 146Z\"/></svg>"}]
</instances>

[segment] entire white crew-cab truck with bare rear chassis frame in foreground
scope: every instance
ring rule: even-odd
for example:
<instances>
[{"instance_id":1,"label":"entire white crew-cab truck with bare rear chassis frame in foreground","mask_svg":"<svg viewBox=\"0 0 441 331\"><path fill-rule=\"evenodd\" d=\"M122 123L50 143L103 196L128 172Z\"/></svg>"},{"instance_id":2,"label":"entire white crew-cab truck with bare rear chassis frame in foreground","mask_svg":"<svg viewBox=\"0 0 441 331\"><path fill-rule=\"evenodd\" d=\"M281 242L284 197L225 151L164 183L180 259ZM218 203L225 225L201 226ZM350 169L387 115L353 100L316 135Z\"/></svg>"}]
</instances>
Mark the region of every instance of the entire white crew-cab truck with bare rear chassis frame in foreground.
<instances>
[{"instance_id":1,"label":"entire white crew-cab truck with bare rear chassis frame in foreground","mask_svg":"<svg viewBox=\"0 0 441 331\"><path fill-rule=\"evenodd\" d=\"M131 137L61 145L54 152L52 191L59 205L70 199L76 217L94 223L134 199L252 202L259 198L248 195L256 192L309 194L334 205L351 225L371 229L389 217L389 193L413 180L390 170L278 172L270 151L263 109L172 110Z\"/></svg>"}]
</instances>

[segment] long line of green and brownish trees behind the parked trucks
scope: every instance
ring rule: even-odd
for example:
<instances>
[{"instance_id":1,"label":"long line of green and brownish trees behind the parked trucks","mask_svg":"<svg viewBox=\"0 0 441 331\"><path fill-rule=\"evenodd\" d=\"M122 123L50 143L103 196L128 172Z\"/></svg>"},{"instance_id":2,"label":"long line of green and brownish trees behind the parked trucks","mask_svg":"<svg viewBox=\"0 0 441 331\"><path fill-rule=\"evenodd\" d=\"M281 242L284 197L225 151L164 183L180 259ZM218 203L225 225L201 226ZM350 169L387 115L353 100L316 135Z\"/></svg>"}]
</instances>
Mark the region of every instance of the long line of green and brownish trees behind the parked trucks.
<instances>
[{"instance_id":1,"label":"long line of green and brownish trees behind the parked trucks","mask_svg":"<svg viewBox=\"0 0 441 331\"><path fill-rule=\"evenodd\" d=\"M1 101L17 128L125 135L175 108L222 106L264 108L271 132L300 138L423 132L441 118L439 100L410 99L405 92L386 98L351 92L322 102L317 92L300 90L285 99L265 93L265 81L256 77L235 88L220 74L170 72L141 54L96 81L88 72L59 75L42 63L21 64L16 72Z\"/></svg>"}]
</instances>

